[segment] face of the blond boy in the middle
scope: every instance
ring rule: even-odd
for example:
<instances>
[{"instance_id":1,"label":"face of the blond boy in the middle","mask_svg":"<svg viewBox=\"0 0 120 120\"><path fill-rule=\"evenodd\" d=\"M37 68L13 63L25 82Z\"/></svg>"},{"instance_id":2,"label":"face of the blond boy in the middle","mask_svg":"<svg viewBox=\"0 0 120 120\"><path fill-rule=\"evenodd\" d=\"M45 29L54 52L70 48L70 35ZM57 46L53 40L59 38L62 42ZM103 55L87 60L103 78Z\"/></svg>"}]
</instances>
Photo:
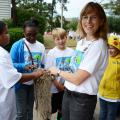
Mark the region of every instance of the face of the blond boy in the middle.
<instances>
[{"instance_id":1,"label":"face of the blond boy in the middle","mask_svg":"<svg viewBox=\"0 0 120 120\"><path fill-rule=\"evenodd\" d=\"M63 38L60 38L60 37L54 38L54 42L56 46L61 50L65 49L66 41L67 41L66 36L64 36Z\"/></svg>"}]
</instances>

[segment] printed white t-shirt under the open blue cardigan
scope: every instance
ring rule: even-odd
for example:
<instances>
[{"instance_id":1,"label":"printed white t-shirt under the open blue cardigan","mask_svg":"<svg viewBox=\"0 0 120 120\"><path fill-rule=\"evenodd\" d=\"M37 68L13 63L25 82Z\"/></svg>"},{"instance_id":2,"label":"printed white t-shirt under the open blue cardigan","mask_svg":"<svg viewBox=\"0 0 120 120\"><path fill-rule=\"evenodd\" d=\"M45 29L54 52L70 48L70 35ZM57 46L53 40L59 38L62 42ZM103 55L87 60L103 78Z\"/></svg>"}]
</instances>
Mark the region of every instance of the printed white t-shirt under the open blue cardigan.
<instances>
[{"instance_id":1,"label":"printed white t-shirt under the open blue cardigan","mask_svg":"<svg viewBox=\"0 0 120 120\"><path fill-rule=\"evenodd\" d=\"M41 68L41 64L45 63L45 47L42 43L36 41L35 43L31 44L28 42L25 38L25 43L30 49L30 52L32 53L32 58L34 64L37 66L37 68ZM28 49L26 45L24 45L24 58L25 58L25 64L32 65L32 61L30 60L30 54L28 52ZM31 71L29 71L31 72ZM33 80L25 82L26 85L33 84Z\"/></svg>"}]
</instances>

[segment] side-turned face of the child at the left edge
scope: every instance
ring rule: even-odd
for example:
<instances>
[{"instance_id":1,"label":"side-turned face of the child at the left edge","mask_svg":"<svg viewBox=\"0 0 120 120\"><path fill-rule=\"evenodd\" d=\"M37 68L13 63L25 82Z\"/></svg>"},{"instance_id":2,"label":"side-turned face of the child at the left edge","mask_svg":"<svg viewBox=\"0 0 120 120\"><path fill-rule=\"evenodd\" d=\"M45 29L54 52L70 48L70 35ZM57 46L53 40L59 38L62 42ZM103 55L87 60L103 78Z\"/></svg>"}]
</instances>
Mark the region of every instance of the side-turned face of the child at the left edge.
<instances>
[{"instance_id":1,"label":"side-turned face of the child at the left edge","mask_svg":"<svg viewBox=\"0 0 120 120\"><path fill-rule=\"evenodd\" d=\"M5 26L3 33L0 35L0 45L5 47L10 42L10 36L8 34L8 28Z\"/></svg>"}]
</instances>

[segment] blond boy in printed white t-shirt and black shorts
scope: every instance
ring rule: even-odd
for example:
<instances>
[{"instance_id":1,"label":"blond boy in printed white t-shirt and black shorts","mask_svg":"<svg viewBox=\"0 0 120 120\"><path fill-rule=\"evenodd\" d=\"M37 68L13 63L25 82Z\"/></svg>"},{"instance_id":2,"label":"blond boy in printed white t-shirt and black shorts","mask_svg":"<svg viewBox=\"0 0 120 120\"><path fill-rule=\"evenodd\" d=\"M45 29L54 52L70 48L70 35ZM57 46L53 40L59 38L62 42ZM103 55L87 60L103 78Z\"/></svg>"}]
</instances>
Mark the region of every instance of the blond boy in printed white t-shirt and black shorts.
<instances>
[{"instance_id":1,"label":"blond boy in printed white t-shirt and black shorts","mask_svg":"<svg viewBox=\"0 0 120 120\"><path fill-rule=\"evenodd\" d=\"M46 67L56 66L60 70L69 70L69 63L74 50L66 47L67 33L62 28L55 28L52 31L56 46L48 52ZM51 87L52 93L52 113L58 111L57 120L61 120L61 106L64 92L64 79L57 77Z\"/></svg>"}]
</instances>

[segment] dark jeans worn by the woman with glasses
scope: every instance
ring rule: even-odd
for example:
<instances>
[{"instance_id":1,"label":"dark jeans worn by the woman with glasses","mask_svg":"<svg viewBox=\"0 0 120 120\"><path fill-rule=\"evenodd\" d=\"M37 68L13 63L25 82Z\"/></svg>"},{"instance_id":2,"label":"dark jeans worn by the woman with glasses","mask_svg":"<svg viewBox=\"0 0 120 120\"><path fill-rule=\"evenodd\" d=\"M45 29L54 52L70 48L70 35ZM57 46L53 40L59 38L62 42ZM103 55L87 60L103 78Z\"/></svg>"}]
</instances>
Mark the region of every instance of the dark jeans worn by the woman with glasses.
<instances>
[{"instance_id":1,"label":"dark jeans worn by the woman with glasses","mask_svg":"<svg viewBox=\"0 0 120 120\"><path fill-rule=\"evenodd\" d=\"M65 90L62 103L62 120L92 120L96 102L96 95Z\"/></svg>"}]
</instances>

